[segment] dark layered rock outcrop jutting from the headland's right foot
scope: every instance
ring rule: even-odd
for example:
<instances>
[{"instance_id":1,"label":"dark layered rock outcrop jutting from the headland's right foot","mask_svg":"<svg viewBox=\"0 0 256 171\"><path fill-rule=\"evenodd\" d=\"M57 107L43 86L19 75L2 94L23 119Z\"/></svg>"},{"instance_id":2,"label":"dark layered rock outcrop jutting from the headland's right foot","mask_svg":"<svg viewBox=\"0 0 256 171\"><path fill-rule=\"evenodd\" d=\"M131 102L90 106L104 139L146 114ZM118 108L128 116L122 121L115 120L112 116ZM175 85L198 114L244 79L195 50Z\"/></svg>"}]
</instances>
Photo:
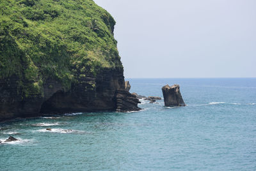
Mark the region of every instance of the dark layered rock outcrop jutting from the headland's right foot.
<instances>
[{"instance_id":1,"label":"dark layered rock outcrop jutting from the headland's right foot","mask_svg":"<svg viewBox=\"0 0 256 171\"><path fill-rule=\"evenodd\" d=\"M116 93L116 112L131 112L141 110L138 107L141 103L134 94L125 90L119 90Z\"/></svg>"}]
</instances>

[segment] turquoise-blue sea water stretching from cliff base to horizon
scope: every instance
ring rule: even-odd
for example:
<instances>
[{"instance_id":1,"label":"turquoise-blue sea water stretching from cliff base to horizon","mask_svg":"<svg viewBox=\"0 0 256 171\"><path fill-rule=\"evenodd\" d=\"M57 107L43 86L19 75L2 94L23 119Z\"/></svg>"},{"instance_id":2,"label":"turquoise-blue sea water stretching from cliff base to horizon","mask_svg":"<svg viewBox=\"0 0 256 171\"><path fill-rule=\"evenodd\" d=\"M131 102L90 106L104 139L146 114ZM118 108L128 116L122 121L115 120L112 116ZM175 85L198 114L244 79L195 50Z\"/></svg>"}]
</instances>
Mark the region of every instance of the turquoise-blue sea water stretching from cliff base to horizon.
<instances>
[{"instance_id":1,"label":"turquoise-blue sea water stretching from cliff base to horizon","mask_svg":"<svg viewBox=\"0 0 256 171\"><path fill-rule=\"evenodd\" d=\"M129 79L145 96L179 84L186 107L0 124L0 170L256 170L256 78ZM47 131L46 128L52 128Z\"/></svg>"}]
</instances>

